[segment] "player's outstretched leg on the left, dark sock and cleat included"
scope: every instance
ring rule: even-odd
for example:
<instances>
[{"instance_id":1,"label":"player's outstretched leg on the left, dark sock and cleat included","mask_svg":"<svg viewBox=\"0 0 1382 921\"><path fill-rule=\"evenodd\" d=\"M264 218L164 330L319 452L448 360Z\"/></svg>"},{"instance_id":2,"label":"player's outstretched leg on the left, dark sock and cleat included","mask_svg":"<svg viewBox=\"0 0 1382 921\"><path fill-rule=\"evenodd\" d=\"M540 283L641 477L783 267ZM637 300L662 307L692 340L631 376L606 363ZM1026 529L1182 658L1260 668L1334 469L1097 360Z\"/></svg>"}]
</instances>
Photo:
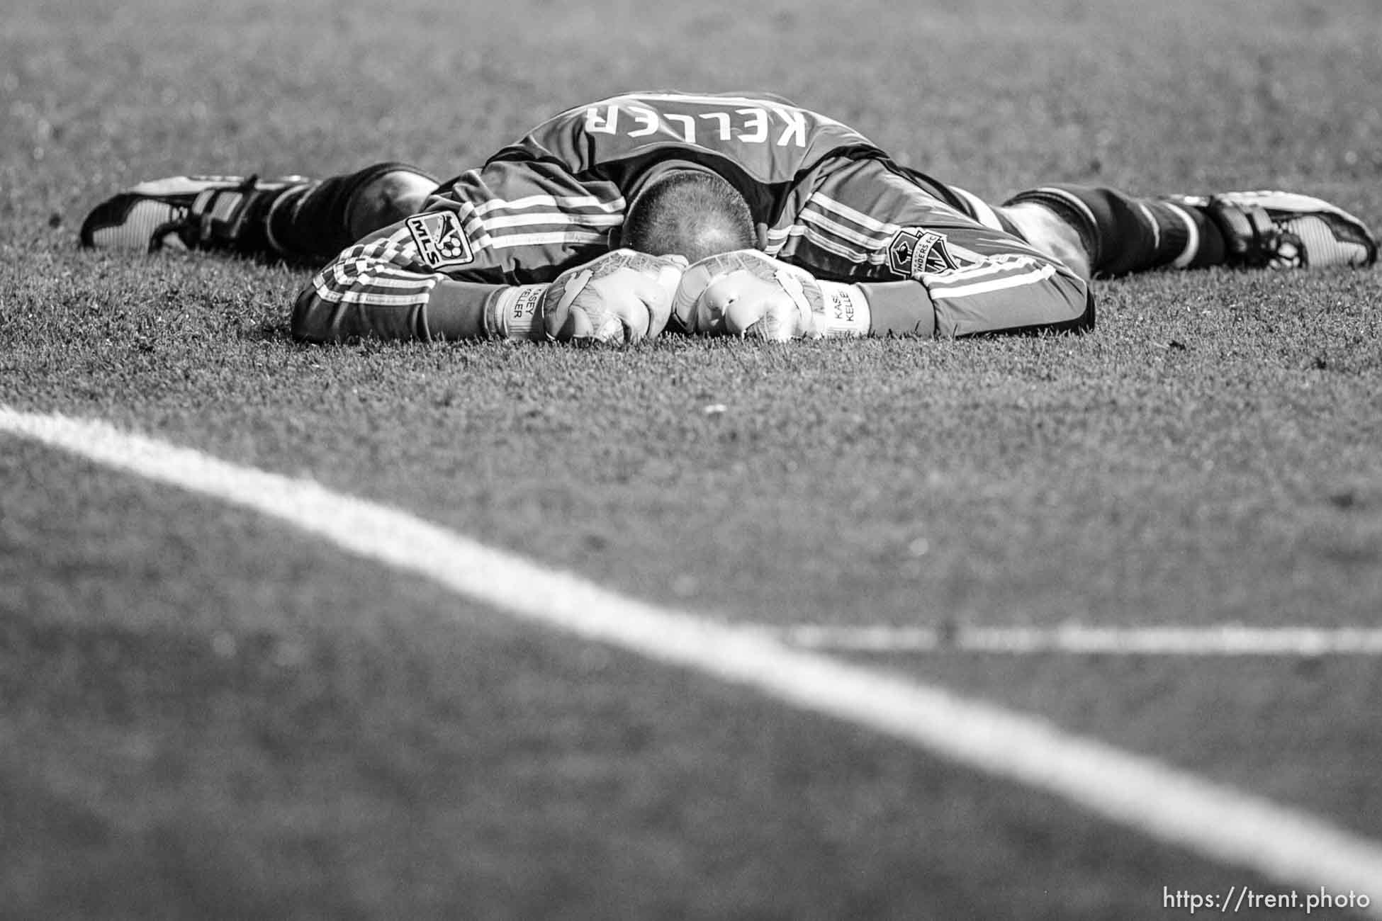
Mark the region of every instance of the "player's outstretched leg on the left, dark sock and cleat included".
<instances>
[{"instance_id":1,"label":"player's outstretched leg on the left, dark sock and cleat included","mask_svg":"<svg viewBox=\"0 0 1382 921\"><path fill-rule=\"evenodd\" d=\"M293 175L171 177L98 204L82 244L100 249L221 250L319 261L422 210L437 181L404 163L308 180Z\"/></svg>"}]
</instances>

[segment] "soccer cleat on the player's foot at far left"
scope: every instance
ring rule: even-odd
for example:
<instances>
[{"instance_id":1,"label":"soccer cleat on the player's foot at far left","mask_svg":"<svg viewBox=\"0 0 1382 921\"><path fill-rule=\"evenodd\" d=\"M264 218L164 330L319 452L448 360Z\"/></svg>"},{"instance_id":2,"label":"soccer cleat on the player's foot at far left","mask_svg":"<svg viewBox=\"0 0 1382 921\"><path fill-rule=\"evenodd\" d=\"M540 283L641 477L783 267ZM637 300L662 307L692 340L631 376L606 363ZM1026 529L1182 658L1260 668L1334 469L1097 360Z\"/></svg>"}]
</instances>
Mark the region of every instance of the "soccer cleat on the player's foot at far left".
<instances>
[{"instance_id":1,"label":"soccer cleat on the player's foot at far left","mask_svg":"<svg viewBox=\"0 0 1382 921\"><path fill-rule=\"evenodd\" d=\"M138 250L223 250L253 255L268 249L264 217L301 175L174 175L141 182L95 206L82 222L82 246Z\"/></svg>"}]
</instances>

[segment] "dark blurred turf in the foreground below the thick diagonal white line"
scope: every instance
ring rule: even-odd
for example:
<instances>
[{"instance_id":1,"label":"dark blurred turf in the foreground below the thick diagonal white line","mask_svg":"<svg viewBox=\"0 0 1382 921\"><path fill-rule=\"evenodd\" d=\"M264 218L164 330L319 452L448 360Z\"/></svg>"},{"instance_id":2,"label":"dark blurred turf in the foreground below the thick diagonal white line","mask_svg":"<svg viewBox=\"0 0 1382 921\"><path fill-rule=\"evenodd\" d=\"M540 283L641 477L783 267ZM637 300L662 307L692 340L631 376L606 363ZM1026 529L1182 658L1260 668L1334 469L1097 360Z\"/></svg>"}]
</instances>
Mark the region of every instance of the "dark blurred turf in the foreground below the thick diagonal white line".
<instances>
[{"instance_id":1,"label":"dark blurred turf in the foreground below the thick diagonal white line","mask_svg":"<svg viewBox=\"0 0 1382 921\"><path fill-rule=\"evenodd\" d=\"M3 532L7 917L1133 917L1226 874L246 514L0 471L84 483Z\"/></svg>"}]
</instances>

